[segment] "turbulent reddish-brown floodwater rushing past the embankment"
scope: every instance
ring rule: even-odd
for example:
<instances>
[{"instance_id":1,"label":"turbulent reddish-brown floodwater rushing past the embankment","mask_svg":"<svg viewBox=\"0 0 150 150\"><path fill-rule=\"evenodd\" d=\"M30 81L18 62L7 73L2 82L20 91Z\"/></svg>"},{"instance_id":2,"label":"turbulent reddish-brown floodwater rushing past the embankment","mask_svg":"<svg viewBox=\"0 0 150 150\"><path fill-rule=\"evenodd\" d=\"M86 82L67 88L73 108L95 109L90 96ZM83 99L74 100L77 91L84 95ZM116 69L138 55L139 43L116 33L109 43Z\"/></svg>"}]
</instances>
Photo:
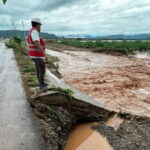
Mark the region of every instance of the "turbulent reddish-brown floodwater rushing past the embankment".
<instances>
[{"instance_id":1,"label":"turbulent reddish-brown floodwater rushing past the embankment","mask_svg":"<svg viewBox=\"0 0 150 150\"><path fill-rule=\"evenodd\" d=\"M113 111L150 116L150 60L85 51L53 51L63 79Z\"/></svg>"}]
</instances>

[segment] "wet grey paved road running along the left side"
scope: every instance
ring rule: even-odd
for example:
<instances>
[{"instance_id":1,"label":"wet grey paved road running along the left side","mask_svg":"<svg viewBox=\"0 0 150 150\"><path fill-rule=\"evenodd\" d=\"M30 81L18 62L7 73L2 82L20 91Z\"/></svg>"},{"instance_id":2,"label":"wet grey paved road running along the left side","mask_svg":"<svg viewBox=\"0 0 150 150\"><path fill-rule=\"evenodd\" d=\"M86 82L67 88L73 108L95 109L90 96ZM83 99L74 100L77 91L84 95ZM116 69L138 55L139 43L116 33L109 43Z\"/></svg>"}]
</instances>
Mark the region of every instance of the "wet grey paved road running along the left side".
<instances>
[{"instance_id":1,"label":"wet grey paved road running along the left side","mask_svg":"<svg viewBox=\"0 0 150 150\"><path fill-rule=\"evenodd\" d=\"M11 49L0 42L0 149L44 150Z\"/></svg>"}]
</instances>

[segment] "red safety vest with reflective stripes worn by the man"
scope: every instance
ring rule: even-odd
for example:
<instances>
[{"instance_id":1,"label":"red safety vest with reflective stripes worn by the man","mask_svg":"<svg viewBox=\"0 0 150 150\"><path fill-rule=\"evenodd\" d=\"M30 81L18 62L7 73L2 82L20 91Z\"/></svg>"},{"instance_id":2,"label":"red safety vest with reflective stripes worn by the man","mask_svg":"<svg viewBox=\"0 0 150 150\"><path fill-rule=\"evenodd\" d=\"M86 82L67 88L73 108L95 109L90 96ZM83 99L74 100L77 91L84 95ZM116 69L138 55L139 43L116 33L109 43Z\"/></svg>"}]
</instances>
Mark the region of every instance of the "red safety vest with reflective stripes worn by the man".
<instances>
[{"instance_id":1,"label":"red safety vest with reflective stripes worn by the man","mask_svg":"<svg viewBox=\"0 0 150 150\"><path fill-rule=\"evenodd\" d=\"M40 51L40 49L38 49L36 47L36 45L34 44L32 37L31 37L31 33L34 29L31 28L29 31L29 35L28 35L28 45L29 45L29 56L31 58L43 58L44 54ZM43 38L40 36L40 44L43 47L43 50L45 51L45 42L43 40Z\"/></svg>"}]
</instances>

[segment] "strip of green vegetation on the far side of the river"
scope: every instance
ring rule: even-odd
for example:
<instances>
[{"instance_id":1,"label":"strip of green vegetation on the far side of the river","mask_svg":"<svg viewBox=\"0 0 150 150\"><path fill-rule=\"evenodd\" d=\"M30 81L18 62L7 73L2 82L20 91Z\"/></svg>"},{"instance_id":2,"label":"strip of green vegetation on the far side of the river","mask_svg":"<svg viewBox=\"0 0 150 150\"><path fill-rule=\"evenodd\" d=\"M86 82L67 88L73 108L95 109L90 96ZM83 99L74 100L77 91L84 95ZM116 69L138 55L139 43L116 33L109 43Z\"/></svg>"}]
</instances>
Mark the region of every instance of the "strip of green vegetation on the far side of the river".
<instances>
[{"instance_id":1,"label":"strip of green vegetation on the far side of the river","mask_svg":"<svg viewBox=\"0 0 150 150\"><path fill-rule=\"evenodd\" d=\"M76 48L89 48L96 50L123 50L128 53L134 51L150 51L150 42L148 41L102 41L102 40L87 40L82 41L78 39L61 39L61 40L47 40L53 46L69 45Z\"/></svg>"}]
</instances>

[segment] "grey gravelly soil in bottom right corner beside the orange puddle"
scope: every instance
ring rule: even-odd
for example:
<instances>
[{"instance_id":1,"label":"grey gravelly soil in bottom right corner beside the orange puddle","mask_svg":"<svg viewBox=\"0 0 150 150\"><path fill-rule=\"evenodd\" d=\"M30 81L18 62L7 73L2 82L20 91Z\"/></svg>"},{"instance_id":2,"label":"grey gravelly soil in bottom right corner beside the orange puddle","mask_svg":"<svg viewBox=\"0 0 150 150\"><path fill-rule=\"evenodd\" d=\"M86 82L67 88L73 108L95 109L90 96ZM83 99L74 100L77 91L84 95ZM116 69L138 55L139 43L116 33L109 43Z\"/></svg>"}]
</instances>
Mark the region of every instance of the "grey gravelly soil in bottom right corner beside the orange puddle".
<instances>
[{"instance_id":1,"label":"grey gravelly soil in bottom right corner beside the orange puddle","mask_svg":"<svg viewBox=\"0 0 150 150\"><path fill-rule=\"evenodd\" d=\"M106 126L104 122L92 128L106 137L115 150L149 150L150 119L124 116L118 130Z\"/></svg>"}]
</instances>

